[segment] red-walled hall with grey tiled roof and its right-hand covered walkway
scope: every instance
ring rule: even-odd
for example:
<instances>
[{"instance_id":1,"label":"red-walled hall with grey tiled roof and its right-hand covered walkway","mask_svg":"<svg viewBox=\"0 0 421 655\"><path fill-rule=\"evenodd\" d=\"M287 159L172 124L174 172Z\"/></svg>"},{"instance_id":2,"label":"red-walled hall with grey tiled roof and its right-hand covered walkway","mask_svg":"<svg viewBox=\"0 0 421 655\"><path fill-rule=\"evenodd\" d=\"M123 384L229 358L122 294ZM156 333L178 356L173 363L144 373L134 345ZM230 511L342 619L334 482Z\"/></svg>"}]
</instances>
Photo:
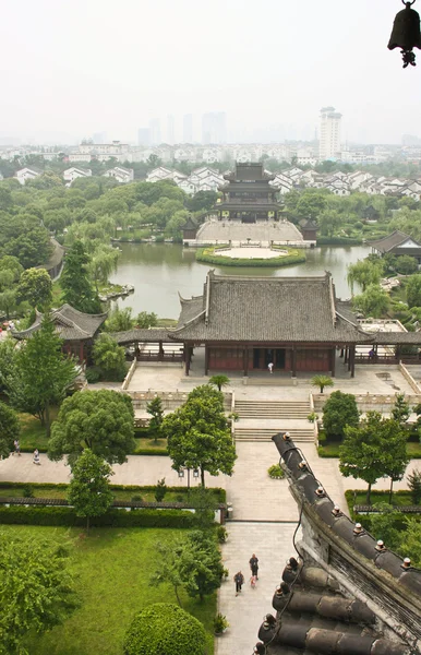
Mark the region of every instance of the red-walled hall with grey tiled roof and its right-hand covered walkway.
<instances>
[{"instance_id":1,"label":"red-walled hall with grey tiled roof and its right-hand covered walkway","mask_svg":"<svg viewBox=\"0 0 421 655\"><path fill-rule=\"evenodd\" d=\"M267 370L276 373L335 376L340 349L354 377L356 359L384 364L382 357L358 355L396 346L387 362L399 361L399 348L421 346L421 332L368 332L337 300L330 273L318 277L237 277L209 271L202 296L180 298L181 313L168 336L183 343L185 374L195 347L205 346L209 371Z\"/></svg>"}]
</instances>

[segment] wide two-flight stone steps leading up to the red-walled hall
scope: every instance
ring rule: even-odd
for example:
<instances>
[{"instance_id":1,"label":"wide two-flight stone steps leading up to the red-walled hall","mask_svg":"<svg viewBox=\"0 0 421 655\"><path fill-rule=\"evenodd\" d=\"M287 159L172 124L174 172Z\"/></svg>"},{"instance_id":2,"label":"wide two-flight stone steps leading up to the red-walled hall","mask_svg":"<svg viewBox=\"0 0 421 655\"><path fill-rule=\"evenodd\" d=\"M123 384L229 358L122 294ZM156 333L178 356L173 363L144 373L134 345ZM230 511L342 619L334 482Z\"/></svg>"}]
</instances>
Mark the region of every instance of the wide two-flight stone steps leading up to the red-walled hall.
<instances>
[{"instance_id":1,"label":"wide two-flight stone steps leading up to the red-walled hall","mask_svg":"<svg viewBox=\"0 0 421 655\"><path fill-rule=\"evenodd\" d=\"M236 441L270 441L288 431L297 442L313 442L314 428L308 421L309 401L236 401Z\"/></svg>"}]
</instances>

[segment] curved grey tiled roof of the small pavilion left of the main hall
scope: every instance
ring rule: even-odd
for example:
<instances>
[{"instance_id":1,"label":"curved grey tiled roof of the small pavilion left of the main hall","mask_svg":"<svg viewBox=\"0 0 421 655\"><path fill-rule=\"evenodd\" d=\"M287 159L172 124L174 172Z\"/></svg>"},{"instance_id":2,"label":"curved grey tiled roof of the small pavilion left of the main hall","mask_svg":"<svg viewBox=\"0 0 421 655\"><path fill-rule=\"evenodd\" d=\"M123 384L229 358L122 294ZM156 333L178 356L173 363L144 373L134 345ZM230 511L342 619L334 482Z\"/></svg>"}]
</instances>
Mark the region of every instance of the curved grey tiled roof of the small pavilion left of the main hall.
<instances>
[{"instance_id":1,"label":"curved grey tiled roof of the small pavilion left of the main hall","mask_svg":"<svg viewBox=\"0 0 421 655\"><path fill-rule=\"evenodd\" d=\"M56 331L62 340L85 341L94 336L107 319L107 314L108 312L87 314L64 303L59 309L51 311L51 321L55 323ZM11 334L19 340L27 338L39 330L43 314L37 311L35 321L31 327L22 331L12 331Z\"/></svg>"}]
</instances>

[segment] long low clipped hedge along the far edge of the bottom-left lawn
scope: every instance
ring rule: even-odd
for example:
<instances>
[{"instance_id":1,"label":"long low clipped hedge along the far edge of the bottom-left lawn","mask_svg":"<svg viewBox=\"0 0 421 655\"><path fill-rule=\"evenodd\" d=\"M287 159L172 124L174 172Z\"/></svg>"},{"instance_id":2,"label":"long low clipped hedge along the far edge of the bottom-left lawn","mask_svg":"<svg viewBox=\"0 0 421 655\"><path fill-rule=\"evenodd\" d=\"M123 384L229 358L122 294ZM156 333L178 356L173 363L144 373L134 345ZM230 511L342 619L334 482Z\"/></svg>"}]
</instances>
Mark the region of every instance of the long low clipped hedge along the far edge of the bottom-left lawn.
<instances>
[{"instance_id":1,"label":"long low clipped hedge along the far edge of the bottom-left lawn","mask_svg":"<svg viewBox=\"0 0 421 655\"><path fill-rule=\"evenodd\" d=\"M86 519L76 516L65 507L0 507L0 524L49 525L53 527L84 527ZM196 525L192 512L184 510L110 510L91 519L95 527L187 527Z\"/></svg>"}]
</instances>

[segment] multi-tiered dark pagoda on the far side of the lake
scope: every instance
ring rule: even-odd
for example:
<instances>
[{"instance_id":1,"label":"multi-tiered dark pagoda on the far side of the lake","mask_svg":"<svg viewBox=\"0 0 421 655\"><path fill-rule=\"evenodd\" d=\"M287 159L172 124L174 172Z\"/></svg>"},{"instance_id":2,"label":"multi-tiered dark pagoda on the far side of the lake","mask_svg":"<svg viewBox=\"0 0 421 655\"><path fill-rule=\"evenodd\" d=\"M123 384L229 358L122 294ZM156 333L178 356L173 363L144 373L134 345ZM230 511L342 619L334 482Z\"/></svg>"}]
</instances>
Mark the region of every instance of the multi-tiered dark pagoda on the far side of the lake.
<instances>
[{"instance_id":1,"label":"multi-tiered dark pagoda on the far side of the lake","mask_svg":"<svg viewBox=\"0 0 421 655\"><path fill-rule=\"evenodd\" d=\"M263 164L236 164L236 171L224 176L219 187L222 200L215 206L219 221L257 223L278 221L281 207L277 190L269 182L275 176L265 172Z\"/></svg>"}]
</instances>

